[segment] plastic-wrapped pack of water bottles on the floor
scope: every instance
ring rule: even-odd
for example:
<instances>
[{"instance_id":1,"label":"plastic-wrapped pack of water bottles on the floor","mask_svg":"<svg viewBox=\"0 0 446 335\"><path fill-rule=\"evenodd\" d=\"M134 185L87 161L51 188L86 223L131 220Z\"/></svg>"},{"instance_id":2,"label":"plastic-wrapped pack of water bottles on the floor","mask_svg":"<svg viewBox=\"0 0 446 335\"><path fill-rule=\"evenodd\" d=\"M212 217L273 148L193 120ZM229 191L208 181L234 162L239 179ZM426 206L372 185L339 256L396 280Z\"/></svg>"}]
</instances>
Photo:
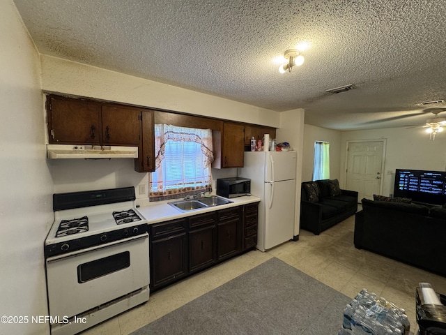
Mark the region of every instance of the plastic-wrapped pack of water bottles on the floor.
<instances>
[{"instance_id":1,"label":"plastic-wrapped pack of water bottles on the floor","mask_svg":"<svg viewBox=\"0 0 446 335\"><path fill-rule=\"evenodd\" d=\"M339 335L408 335L405 311L373 292L362 289L344 308Z\"/></svg>"}]
</instances>

